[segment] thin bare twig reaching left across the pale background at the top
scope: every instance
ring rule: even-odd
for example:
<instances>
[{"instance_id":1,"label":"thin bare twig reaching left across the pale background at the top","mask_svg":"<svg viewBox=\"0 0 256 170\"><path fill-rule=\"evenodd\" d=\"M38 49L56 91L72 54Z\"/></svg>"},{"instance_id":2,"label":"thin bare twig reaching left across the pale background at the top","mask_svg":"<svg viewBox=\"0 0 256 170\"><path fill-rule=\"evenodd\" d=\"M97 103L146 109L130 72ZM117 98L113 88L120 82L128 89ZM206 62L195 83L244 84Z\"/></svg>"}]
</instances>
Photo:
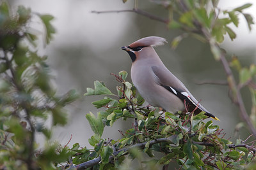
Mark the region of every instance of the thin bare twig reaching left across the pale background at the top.
<instances>
[{"instance_id":1,"label":"thin bare twig reaching left across the pale background at the top","mask_svg":"<svg viewBox=\"0 0 256 170\"><path fill-rule=\"evenodd\" d=\"M166 19L163 19L161 17L157 17L156 15L152 15L151 13L148 13L147 11L143 11L143 10L140 10L138 8L134 8L132 10L110 10L110 11L92 11L92 13L121 13L121 12L134 12L134 13L138 13L139 15L142 15L144 17L147 17L147 18L150 18L152 20L157 20L159 22L163 22L165 24L168 23L168 20Z\"/></svg>"}]
</instances>

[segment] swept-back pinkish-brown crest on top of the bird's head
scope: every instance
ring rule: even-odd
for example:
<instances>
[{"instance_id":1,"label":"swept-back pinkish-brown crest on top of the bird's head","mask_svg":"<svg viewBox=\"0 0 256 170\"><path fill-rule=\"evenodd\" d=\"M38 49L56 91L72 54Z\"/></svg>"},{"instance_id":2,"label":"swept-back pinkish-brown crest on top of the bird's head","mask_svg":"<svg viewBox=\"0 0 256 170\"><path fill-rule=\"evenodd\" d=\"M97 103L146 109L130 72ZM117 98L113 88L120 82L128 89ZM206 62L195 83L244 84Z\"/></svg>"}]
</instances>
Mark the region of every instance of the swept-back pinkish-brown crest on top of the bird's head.
<instances>
[{"instance_id":1,"label":"swept-back pinkish-brown crest on top of the bird's head","mask_svg":"<svg viewBox=\"0 0 256 170\"><path fill-rule=\"evenodd\" d=\"M141 38L134 43L131 43L131 47L136 47L136 46L159 46L159 45L164 45L164 43L167 43L165 38L161 38L158 36L148 36L145 38Z\"/></svg>"}]
</instances>

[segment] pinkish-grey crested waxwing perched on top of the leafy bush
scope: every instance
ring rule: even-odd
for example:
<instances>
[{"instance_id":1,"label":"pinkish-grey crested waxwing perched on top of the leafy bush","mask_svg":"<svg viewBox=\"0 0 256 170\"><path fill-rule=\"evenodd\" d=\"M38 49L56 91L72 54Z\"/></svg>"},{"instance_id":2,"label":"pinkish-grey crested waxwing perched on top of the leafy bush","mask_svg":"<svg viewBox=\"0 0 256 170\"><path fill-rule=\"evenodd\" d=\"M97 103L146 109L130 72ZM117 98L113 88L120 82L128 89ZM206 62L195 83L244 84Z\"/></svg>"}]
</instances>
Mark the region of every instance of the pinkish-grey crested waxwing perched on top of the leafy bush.
<instances>
[{"instance_id":1,"label":"pinkish-grey crested waxwing perched on top of the leafy bush","mask_svg":"<svg viewBox=\"0 0 256 170\"><path fill-rule=\"evenodd\" d=\"M173 75L154 50L155 46L167 43L165 38L148 36L128 46L122 46L132 60L131 79L140 95L152 106L163 108L170 113L192 112L214 120L217 117L196 101L185 85Z\"/></svg>"}]
</instances>

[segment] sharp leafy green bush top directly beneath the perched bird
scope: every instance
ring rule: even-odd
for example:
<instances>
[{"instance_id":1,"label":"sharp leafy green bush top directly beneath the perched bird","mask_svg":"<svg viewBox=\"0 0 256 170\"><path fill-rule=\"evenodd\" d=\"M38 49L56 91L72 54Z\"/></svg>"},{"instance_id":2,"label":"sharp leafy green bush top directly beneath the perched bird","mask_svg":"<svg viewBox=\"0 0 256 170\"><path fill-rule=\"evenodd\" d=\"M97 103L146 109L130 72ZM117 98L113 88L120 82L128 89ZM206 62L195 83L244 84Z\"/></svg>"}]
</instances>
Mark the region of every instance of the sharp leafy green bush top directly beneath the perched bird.
<instances>
[{"instance_id":1,"label":"sharp leafy green bush top directly beneath the perched bird","mask_svg":"<svg viewBox=\"0 0 256 170\"><path fill-rule=\"evenodd\" d=\"M173 115L145 106L133 85L125 81L125 71L114 76L120 83L116 95L100 81L95 81L95 89L87 89L86 96L111 95L113 98L104 97L92 103L96 108L104 108L97 117L93 113L86 115L95 133L89 139L93 149L79 148L75 144L70 149L76 152L70 167L122 169L127 162L124 160L140 160L141 153L148 155L147 160L140 162L141 167L147 169L156 169L170 162L176 162L183 169L241 169L254 160L253 148L243 147L244 141L238 140L233 145L223 138L225 133L218 125L212 120L205 123L204 112ZM103 139L104 127L112 126L120 118L134 120L131 129L118 130L122 134L120 139ZM237 145L241 147L236 148ZM156 158L156 152L162 156Z\"/></svg>"}]
</instances>

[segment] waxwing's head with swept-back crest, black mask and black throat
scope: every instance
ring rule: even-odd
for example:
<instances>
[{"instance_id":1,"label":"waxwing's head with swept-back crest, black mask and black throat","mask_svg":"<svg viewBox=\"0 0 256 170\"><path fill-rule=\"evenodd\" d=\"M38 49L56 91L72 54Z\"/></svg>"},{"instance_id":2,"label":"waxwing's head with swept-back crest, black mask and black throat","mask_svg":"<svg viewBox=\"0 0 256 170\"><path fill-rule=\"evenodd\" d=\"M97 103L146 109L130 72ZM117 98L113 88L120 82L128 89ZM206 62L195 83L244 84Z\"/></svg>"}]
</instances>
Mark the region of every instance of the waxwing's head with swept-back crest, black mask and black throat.
<instances>
[{"instance_id":1,"label":"waxwing's head with swept-back crest, black mask and black throat","mask_svg":"<svg viewBox=\"0 0 256 170\"><path fill-rule=\"evenodd\" d=\"M163 45L164 43L167 43L166 39L164 38L158 36L148 36L131 43L129 46L122 46L121 49L129 53L132 62L134 62L136 59L138 59L138 56L141 56L141 54L145 53L145 56L147 56L149 49L154 50L154 46Z\"/></svg>"}]
</instances>

